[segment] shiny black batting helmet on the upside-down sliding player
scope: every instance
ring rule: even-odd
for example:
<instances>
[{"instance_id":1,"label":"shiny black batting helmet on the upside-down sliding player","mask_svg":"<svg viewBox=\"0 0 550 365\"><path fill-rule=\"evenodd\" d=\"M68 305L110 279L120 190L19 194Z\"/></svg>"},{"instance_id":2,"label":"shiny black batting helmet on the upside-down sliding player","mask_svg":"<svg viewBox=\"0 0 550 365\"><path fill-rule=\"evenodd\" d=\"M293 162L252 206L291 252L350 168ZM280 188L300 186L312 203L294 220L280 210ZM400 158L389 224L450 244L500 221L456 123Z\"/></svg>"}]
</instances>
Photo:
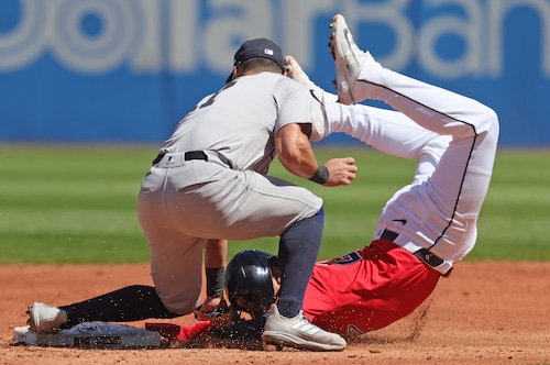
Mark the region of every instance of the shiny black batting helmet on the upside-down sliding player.
<instances>
[{"instance_id":1,"label":"shiny black batting helmet on the upside-down sliding player","mask_svg":"<svg viewBox=\"0 0 550 365\"><path fill-rule=\"evenodd\" d=\"M226 267L226 286L231 306L253 318L262 317L270 309L276 299L271 269L276 258L258 250L241 251L231 258Z\"/></svg>"}]
</instances>

